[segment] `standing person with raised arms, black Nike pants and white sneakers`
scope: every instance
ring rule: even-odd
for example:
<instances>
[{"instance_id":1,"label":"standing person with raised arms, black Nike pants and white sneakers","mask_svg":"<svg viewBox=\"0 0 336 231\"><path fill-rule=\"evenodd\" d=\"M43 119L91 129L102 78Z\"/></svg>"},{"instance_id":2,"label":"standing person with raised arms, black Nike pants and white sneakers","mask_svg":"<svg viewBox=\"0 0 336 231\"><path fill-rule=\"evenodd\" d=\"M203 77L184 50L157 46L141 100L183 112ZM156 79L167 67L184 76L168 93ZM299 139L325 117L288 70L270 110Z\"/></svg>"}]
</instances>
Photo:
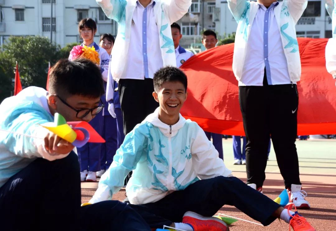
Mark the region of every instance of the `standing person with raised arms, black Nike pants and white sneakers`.
<instances>
[{"instance_id":1,"label":"standing person with raised arms, black Nike pants and white sneakers","mask_svg":"<svg viewBox=\"0 0 336 231\"><path fill-rule=\"evenodd\" d=\"M290 203L309 209L295 146L301 76L296 22L308 0L228 0L238 22L233 72L246 134L247 184L262 191L271 136Z\"/></svg>"}]
</instances>

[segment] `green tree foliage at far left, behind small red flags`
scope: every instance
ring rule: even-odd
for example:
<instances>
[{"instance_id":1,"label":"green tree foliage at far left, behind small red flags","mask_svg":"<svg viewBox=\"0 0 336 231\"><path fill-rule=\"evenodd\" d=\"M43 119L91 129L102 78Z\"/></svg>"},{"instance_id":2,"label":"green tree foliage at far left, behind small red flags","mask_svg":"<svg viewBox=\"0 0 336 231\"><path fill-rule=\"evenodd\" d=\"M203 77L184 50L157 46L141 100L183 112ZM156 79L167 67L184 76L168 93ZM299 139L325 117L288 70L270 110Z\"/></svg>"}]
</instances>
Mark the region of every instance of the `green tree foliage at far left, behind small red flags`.
<instances>
[{"instance_id":1,"label":"green tree foliage at far left, behind small red flags","mask_svg":"<svg viewBox=\"0 0 336 231\"><path fill-rule=\"evenodd\" d=\"M48 62L53 65L60 58L68 58L71 48L68 44L61 49L40 36L10 37L0 52L0 102L11 95L14 89L15 61L19 65L23 88L29 86L46 87Z\"/></svg>"}]
</instances>

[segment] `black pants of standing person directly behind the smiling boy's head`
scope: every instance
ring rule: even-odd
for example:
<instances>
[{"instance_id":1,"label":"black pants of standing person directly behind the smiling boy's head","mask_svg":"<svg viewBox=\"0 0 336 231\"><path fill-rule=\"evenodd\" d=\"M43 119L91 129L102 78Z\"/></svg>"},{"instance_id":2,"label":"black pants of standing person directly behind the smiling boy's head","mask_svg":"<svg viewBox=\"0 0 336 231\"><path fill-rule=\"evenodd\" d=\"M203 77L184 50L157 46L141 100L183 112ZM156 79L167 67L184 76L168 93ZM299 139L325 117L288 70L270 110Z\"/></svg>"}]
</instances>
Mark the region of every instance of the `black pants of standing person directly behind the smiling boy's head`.
<instances>
[{"instance_id":1,"label":"black pants of standing person directly behind the smiling boy's head","mask_svg":"<svg viewBox=\"0 0 336 231\"><path fill-rule=\"evenodd\" d=\"M125 135L159 106L154 100L153 79L120 79L118 83Z\"/></svg>"}]
</instances>

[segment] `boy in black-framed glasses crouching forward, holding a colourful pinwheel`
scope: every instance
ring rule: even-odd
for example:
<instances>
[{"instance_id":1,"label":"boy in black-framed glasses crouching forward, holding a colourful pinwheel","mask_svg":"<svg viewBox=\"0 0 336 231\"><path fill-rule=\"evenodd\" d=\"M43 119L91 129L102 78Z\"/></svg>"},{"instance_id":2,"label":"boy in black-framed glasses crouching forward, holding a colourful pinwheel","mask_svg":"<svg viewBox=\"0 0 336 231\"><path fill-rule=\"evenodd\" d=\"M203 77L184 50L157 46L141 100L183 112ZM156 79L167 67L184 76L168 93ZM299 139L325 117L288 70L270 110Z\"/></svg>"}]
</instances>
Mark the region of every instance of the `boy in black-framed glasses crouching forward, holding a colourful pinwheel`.
<instances>
[{"instance_id":1,"label":"boy in black-framed glasses crouching forward, holding a colourful pinwheel","mask_svg":"<svg viewBox=\"0 0 336 231\"><path fill-rule=\"evenodd\" d=\"M103 94L94 63L64 59L50 70L49 92L28 87L0 104L1 230L150 231L119 201L81 207L76 148L40 126L56 112L66 121L89 122L102 110Z\"/></svg>"}]
</instances>

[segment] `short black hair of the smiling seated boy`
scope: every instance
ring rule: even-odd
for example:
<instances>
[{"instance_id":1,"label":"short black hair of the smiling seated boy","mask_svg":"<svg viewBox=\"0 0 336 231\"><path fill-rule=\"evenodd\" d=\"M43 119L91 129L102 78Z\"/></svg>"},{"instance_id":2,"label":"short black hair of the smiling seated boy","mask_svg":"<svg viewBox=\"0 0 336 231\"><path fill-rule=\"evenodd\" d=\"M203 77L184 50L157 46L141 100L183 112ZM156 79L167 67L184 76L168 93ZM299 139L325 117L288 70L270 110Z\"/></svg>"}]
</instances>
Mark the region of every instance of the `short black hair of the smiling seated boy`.
<instances>
[{"instance_id":1,"label":"short black hair of the smiling seated boy","mask_svg":"<svg viewBox=\"0 0 336 231\"><path fill-rule=\"evenodd\" d=\"M153 77L154 91L159 92L162 85L167 82L181 82L187 91L187 76L179 68L174 66L165 66L160 68Z\"/></svg>"}]
</instances>

